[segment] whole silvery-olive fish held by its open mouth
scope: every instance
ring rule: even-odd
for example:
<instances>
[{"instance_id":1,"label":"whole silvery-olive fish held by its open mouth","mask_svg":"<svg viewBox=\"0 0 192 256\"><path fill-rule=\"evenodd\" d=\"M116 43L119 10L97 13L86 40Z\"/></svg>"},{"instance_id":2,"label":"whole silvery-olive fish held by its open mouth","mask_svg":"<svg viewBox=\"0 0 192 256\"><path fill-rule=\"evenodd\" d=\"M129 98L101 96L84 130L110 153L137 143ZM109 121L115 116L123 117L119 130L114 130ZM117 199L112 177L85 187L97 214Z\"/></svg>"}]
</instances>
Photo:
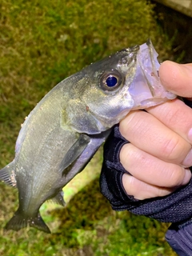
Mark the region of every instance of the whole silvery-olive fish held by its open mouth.
<instances>
[{"instance_id":1,"label":"whole silvery-olive fish held by its open mouth","mask_svg":"<svg viewBox=\"0 0 192 256\"><path fill-rule=\"evenodd\" d=\"M59 82L34 107L18 134L14 160L0 180L18 189L18 210L8 230L26 226L46 233L39 208L65 206L62 188L81 172L130 110L174 99L162 86L150 40L86 66Z\"/></svg>"}]
</instances>

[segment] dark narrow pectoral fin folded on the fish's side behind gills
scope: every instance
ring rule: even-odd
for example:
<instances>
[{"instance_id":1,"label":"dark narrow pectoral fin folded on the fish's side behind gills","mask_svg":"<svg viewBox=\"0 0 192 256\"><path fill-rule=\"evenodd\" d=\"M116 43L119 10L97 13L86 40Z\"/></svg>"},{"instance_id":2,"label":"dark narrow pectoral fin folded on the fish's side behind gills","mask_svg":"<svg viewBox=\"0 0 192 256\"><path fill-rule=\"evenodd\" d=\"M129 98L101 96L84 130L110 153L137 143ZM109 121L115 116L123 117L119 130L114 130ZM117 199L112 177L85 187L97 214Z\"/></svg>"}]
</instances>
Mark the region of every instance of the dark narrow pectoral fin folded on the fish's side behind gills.
<instances>
[{"instance_id":1,"label":"dark narrow pectoral fin folded on the fish's side behind gills","mask_svg":"<svg viewBox=\"0 0 192 256\"><path fill-rule=\"evenodd\" d=\"M74 142L74 145L70 147L70 150L66 153L62 159L59 171L63 175L67 174L68 168L78 157L82 154L82 151L86 149L87 144L90 142L90 137L86 134L80 134L78 140Z\"/></svg>"}]
</instances>

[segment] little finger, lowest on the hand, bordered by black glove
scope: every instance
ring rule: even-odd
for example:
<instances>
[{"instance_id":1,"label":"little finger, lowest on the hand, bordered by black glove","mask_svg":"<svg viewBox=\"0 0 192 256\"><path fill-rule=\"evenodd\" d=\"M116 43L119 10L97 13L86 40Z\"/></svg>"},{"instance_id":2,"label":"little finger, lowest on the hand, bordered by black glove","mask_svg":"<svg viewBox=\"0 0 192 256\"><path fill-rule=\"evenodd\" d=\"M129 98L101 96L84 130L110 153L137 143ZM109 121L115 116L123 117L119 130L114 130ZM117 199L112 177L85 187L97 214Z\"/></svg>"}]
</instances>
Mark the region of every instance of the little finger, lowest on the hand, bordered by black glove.
<instances>
[{"instance_id":1,"label":"little finger, lowest on the hand, bordered by black glove","mask_svg":"<svg viewBox=\"0 0 192 256\"><path fill-rule=\"evenodd\" d=\"M147 184L146 182L141 182L129 174L122 175L122 185L126 190L126 194L132 195L138 200L163 197L176 190L176 188L158 187Z\"/></svg>"}]
</instances>

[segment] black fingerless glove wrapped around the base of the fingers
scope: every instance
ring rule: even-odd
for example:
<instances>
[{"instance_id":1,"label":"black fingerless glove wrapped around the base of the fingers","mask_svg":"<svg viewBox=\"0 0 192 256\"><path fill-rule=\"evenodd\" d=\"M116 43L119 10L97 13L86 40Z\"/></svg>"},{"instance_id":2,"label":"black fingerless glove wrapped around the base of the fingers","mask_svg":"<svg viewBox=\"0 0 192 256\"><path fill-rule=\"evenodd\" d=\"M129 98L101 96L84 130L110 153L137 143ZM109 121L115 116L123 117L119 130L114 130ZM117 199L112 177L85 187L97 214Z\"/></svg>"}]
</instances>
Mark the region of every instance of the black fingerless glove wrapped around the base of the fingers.
<instances>
[{"instance_id":1,"label":"black fingerless glove wrapped around the base of the fingers","mask_svg":"<svg viewBox=\"0 0 192 256\"><path fill-rule=\"evenodd\" d=\"M126 194L122 186L122 174L127 172L119 161L119 152L125 143L128 142L120 134L118 126L114 126L104 146L100 177L101 192L110 201L112 208L129 210L160 222L182 222L192 217L192 180L165 197L136 200Z\"/></svg>"}]
</instances>

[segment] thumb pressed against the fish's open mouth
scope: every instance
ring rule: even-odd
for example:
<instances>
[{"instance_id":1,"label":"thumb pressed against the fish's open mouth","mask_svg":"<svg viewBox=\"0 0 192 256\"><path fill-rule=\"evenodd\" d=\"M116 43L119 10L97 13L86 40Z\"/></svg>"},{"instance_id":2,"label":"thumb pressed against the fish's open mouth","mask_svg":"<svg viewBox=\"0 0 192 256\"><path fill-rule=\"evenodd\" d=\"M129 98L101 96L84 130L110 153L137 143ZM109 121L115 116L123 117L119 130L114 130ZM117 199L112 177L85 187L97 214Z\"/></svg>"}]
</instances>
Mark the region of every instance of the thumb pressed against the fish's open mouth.
<instances>
[{"instance_id":1,"label":"thumb pressed against the fish's open mouth","mask_svg":"<svg viewBox=\"0 0 192 256\"><path fill-rule=\"evenodd\" d=\"M192 64L163 62L159 77L166 90L182 97L192 97Z\"/></svg>"}]
</instances>

